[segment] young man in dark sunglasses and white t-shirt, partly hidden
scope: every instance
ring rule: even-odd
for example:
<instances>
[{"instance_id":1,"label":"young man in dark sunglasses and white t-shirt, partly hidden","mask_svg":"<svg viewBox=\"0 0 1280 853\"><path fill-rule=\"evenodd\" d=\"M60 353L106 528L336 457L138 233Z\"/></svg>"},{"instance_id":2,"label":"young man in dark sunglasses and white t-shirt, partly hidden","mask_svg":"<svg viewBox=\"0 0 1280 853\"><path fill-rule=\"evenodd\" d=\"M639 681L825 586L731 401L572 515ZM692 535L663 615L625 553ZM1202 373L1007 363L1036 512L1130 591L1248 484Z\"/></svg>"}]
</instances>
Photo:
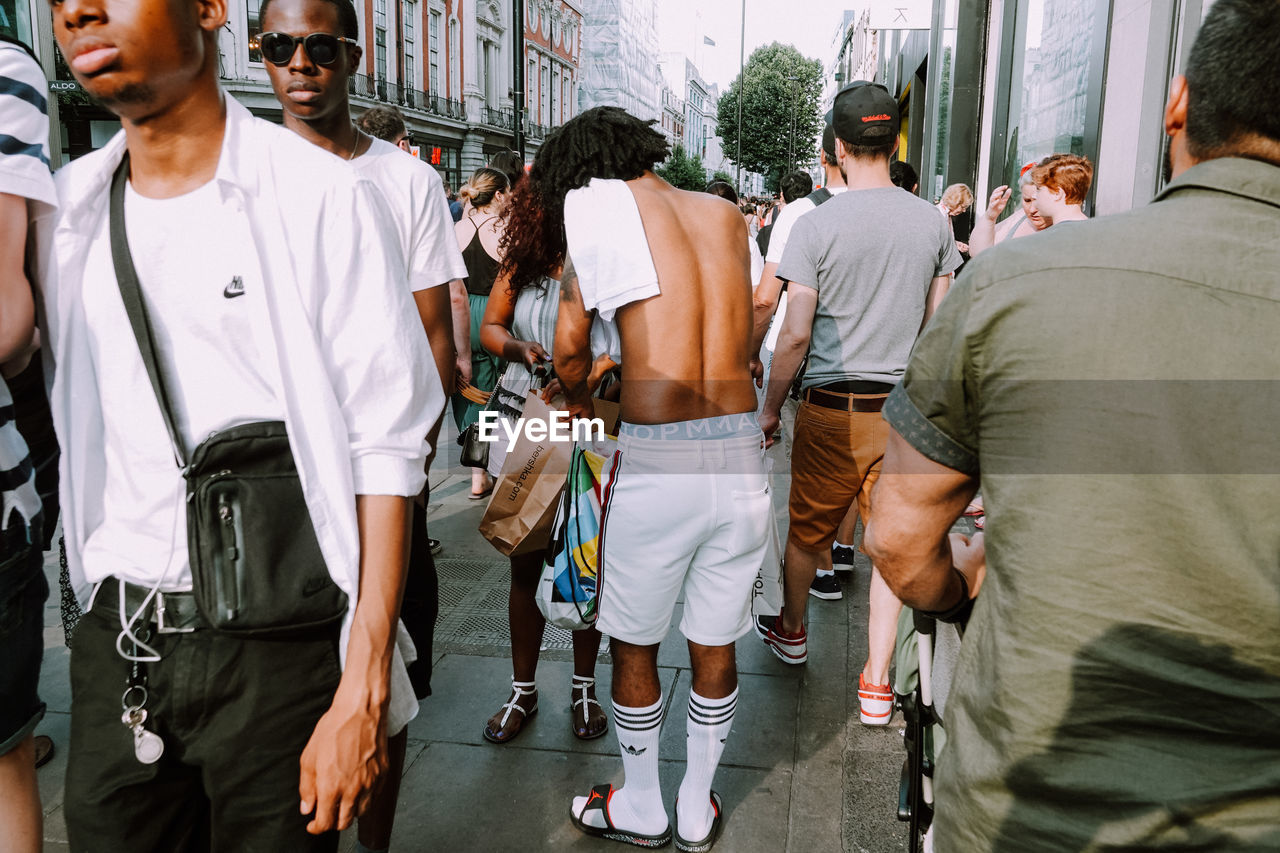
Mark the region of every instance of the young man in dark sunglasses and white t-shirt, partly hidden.
<instances>
[{"instance_id":1,"label":"young man in dark sunglasses and white t-shirt, partly hidden","mask_svg":"<svg viewBox=\"0 0 1280 853\"><path fill-rule=\"evenodd\" d=\"M440 175L417 158L406 156L404 122L390 108L375 108L394 141L380 140L360 129L351 119L347 81L360 68L361 49L352 45L333 54L323 46L312 56L306 37L321 33L333 38L358 38L356 9L351 0L264 0L259 19L259 44L275 97L284 113L284 127L302 138L351 163L383 192L396 218L397 233L408 265L408 288L413 293L422 328L443 384L453 387L454 341L449 315L451 288L466 291L467 275L453 237L453 218ZM364 118L364 117L362 117ZM398 123L398 127L397 127ZM460 318L470 323L466 314ZM463 327L470 328L470 327ZM428 441L435 447L443 416L436 420ZM410 565L406 579L402 622L416 647L410 665L415 695L431 693L433 631L439 612L439 583L435 562L426 542L426 508L415 501L410 533ZM399 776L404 766L408 730L389 731L390 766L384 783L360 821L358 840L364 850L385 850L390 845L396 820Z\"/></svg>"}]
</instances>

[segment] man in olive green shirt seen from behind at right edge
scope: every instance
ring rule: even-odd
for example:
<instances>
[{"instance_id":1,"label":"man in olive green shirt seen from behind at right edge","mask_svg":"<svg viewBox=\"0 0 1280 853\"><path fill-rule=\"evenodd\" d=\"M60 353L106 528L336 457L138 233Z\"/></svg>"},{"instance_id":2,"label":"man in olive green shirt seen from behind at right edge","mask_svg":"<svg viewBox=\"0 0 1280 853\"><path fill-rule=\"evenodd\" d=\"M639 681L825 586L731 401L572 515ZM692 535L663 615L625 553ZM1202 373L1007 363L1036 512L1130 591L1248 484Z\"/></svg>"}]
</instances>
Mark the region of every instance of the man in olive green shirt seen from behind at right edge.
<instances>
[{"instance_id":1,"label":"man in olive green shirt seen from behind at right edge","mask_svg":"<svg viewBox=\"0 0 1280 853\"><path fill-rule=\"evenodd\" d=\"M938 853L1280 849L1275 44L1280 3L1217 0L1172 183L974 260L886 402L872 560L922 610L982 588Z\"/></svg>"}]
</instances>

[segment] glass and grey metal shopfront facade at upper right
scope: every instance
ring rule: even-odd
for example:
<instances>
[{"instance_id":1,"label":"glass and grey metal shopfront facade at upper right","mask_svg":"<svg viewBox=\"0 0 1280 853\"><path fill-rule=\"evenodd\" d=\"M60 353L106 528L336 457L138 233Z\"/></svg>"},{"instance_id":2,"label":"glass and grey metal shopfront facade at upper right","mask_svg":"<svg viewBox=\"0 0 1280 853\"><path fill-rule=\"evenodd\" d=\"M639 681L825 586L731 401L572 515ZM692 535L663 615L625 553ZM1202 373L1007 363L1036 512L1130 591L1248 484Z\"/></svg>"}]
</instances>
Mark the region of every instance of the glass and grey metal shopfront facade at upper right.
<instances>
[{"instance_id":1,"label":"glass and grey metal shopfront facade at upper right","mask_svg":"<svg viewBox=\"0 0 1280 853\"><path fill-rule=\"evenodd\" d=\"M1169 85L1211 4L934 0L928 31L850 23L833 69L899 97L900 151L920 173L922 196L963 182L980 210L1025 164L1071 152L1094 164L1087 211L1117 213L1162 186ZM855 72L859 44L873 77Z\"/></svg>"}]
</instances>

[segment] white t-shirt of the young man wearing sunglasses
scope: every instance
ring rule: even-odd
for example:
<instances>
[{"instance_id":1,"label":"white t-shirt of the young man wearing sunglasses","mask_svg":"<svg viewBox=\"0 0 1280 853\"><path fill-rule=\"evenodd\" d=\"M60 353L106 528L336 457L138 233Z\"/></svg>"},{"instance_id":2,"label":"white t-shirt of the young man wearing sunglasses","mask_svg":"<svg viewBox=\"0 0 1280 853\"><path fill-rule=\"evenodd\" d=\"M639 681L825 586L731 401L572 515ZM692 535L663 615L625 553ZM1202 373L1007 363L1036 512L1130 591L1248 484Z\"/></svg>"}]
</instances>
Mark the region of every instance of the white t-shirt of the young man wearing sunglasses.
<instances>
[{"instance_id":1,"label":"white t-shirt of the young man wearing sunglasses","mask_svg":"<svg viewBox=\"0 0 1280 853\"><path fill-rule=\"evenodd\" d=\"M453 237L444 182L435 169L383 140L372 140L369 150L351 165L383 191L392 209L411 291L467 277L458 241Z\"/></svg>"}]
</instances>

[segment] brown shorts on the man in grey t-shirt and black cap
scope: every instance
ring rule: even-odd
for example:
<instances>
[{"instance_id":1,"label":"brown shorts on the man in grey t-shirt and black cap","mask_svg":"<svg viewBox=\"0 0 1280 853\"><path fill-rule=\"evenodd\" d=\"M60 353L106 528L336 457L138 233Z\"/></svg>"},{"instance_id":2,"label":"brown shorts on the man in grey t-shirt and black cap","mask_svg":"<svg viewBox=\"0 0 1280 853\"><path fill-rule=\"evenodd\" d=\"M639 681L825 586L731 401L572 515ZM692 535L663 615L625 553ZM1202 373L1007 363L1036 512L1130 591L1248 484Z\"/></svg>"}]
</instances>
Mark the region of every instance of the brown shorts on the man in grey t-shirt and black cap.
<instances>
[{"instance_id":1,"label":"brown shorts on the man in grey t-shirt and black cap","mask_svg":"<svg viewBox=\"0 0 1280 853\"><path fill-rule=\"evenodd\" d=\"M855 501L867 524L887 442L888 424L878 411L800 403L791 443L791 542L805 551L829 548Z\"/></svg>"}]
</instances>

